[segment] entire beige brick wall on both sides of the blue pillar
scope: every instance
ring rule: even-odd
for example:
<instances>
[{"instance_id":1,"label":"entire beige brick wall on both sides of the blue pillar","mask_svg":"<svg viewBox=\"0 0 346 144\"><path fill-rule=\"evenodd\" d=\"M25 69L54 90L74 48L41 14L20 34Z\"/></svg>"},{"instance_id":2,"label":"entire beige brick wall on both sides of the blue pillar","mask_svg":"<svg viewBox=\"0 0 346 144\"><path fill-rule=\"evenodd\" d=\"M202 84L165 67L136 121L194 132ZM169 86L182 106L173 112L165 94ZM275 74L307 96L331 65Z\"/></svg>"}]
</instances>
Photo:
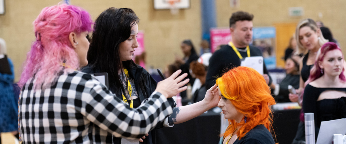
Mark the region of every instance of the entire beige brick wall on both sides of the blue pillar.
<instances>
[{"instance_id":1,"label":"entire beige brick wall on both sides of the blue pillar","mask_svg":"<svg viewBox=\"0 0 346 144\"><path fill-rule=\"evenodd\" d=\"M16 81L35 39L32 22L39 12L60 0L5 0L6 14L0 16L0 37L5 39L8 55L15 64ZM154 10L153 0L71 0L72 4L90 12L95 19L108 7L129 7L139 18L140 30L145 31L148 66L163 68L174 61L174 54L182 56L180 42L190 38L199 51L201 38L200 0L191 0L191 8L172 16L169 10ZM303 17L290 17L289 7L303 7ZM274 23L298 22L302 18L321 20L331 29L341 46L346 47L345 0L240 0L240 8L231 8L229 0L216 0L217 23L228 26L232 12L244 10L255 15L254 26L272 26ZM319 18L319 12L323 17ZM344 50L345 51L345 50ZM344 52L345 54L345 52Z\"/></svg>"}]
</instances>

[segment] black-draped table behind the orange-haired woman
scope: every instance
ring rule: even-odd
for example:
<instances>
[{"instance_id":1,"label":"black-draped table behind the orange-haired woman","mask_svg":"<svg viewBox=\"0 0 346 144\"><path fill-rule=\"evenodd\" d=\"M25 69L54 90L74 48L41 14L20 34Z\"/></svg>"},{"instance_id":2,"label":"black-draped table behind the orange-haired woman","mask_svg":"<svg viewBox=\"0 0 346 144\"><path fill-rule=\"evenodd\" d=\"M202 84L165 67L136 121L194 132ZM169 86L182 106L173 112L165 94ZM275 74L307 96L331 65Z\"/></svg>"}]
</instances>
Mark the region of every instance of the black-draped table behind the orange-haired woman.
<instances>
[{"instance_id":1,"label":"black-draped table behind the orange-haired woman","mask_svg":"<svg viewBox=\"0 0 346 144\"><path fill-rule=\"evenodd\" d=\"M276 143L291 144L297 132L300 109L274 111ZM156 129L156 144L218 144L220 114L209 111L174 127Z\"/></svg>"}]
</instances>

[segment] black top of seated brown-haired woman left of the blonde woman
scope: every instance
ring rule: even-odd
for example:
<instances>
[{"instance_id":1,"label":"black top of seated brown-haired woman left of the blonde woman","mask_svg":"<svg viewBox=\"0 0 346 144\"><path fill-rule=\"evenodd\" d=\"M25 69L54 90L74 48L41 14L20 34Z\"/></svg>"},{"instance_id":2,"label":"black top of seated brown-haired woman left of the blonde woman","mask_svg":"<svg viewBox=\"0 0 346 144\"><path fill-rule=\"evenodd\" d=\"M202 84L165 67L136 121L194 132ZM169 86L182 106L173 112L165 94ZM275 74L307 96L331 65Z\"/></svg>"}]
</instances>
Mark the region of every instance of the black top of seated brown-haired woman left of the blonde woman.
<instances>
[{"instance_id":1,"label":"black top of seated brown-haired woman left of the blonde woman","mask_svg":"<svg viewBox=\"0 0 346 144\"><path fill-rule=\"evenodd\" d=\"M299 88L299 75L291 75L287 74L286 77L281 81L279 95L276 96L276 100L278 103L287 103L291 102L288 98L288 85L293 86L295 89Z\"/></svg>"}]
</instances>

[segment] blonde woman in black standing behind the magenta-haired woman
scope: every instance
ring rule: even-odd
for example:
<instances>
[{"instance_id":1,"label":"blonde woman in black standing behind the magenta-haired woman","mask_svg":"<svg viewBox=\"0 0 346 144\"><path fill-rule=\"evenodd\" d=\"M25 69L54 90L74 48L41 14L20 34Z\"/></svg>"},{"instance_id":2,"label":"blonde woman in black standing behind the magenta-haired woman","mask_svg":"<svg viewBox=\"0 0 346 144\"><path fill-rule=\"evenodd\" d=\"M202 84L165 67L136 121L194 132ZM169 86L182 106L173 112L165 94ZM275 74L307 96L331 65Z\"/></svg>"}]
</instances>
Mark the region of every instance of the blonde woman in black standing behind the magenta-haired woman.
<instances>
[{"instance_id":1,"label":"blonde woman in black standing behind the magenta-haired woman","mask_svg":"<svg viewBox=\"0 0 346 144\"><path fill-rule=\"evenodd\" d=\"M296 54L305 54L302 60L299 62L299 89L296 90L297 94L289 94L291 102L298 102L302 105L302 91L304 89L304 83L308 80L310 70L315 64L317 52L326 40L321 30L318 28L316 22L312 19L301 20L297 28L295 29L295 39L297 40L297 52ZM303 107L304 108L304 107ZM300 123L298 130L292 144L305 143L305 128L304 128L304 113L303 108L300 114Z\"/></svg>"}]
</instances>

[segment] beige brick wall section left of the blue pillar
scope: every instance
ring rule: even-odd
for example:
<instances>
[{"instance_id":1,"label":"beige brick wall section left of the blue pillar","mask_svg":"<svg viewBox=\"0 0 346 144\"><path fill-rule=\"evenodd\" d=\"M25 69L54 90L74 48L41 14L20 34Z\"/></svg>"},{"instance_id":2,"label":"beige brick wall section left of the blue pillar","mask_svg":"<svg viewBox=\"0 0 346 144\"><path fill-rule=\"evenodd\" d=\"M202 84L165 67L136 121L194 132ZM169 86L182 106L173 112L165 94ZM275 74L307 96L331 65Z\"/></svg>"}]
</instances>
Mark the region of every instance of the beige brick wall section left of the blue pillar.
<instances>
[{"instance_id":1,"label":"beige brick wall section left of the blue pillar","mask_svg":"<svg viewBox=\"0 0 346 144\"><path fill-rule=\"evenodd\" d=\"M6 14L0 16L0 37L5 39L8 56L15 65L15 81L19 80L22 63L30 44L35 40L32 22L40 11L60 0L5 0ZM199 51L201 39L200 1L191 0L191 8L172 16L169 10L154 10L153 0L71 0L91 14L93 20L109 7L132 8L141 19L139 30L144 30L147 65L163 68L174 61L174 54L182 56L180 43L192 39Z\"/></svg>"}]
</instances>

